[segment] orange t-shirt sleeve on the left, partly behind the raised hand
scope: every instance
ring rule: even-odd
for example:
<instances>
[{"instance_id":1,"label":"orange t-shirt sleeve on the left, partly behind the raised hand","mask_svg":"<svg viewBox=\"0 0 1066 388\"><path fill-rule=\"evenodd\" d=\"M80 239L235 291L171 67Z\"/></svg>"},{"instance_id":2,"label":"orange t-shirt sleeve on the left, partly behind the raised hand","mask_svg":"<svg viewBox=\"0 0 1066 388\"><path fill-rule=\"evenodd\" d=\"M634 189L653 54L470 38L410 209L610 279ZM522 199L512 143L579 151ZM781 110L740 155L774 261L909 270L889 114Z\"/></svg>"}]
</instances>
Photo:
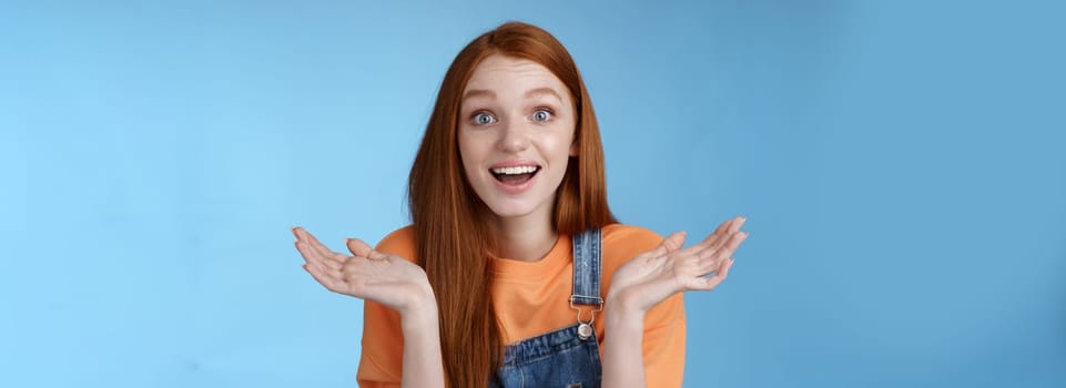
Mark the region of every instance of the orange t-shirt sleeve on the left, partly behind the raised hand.
<instances>
[{"instance_id":1,"label":"orange t-shirt sleeve on the left, partly behind the raised hand","mask_svg":"<svg viewBox=\"0 0 1066 388\"><path fill-rule=\"evenodd\" d=\"M408 226L382 239L378 252L415 261L414 231ZM404 370L404 334L399 314L380 304L363 302L363 347L356 380L359 387L399 387Z\"/></svg>"}]
</instances>

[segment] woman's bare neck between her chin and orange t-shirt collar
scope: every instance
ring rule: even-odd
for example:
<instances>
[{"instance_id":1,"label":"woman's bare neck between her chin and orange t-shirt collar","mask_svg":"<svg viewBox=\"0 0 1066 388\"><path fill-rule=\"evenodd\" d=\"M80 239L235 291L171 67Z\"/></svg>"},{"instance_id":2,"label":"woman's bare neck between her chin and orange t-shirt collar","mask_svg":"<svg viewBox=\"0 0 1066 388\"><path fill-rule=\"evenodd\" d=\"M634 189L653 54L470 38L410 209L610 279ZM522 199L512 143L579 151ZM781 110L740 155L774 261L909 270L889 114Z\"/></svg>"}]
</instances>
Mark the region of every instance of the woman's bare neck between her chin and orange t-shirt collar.
<instances>
[{"instance_id":1,"label":"woman's bare neck between her chin and orange t-shirt collar","mask_svg":"<svg viewBox=\"0 0 1066 388\"><path fill-rule=\"evenodd\" d=\"M546 219L532 214L497 219L500 256L521 262L537 262L547 256L559 234L551 227L551 214L545 213Z\"/></svg>"}]
</instances>

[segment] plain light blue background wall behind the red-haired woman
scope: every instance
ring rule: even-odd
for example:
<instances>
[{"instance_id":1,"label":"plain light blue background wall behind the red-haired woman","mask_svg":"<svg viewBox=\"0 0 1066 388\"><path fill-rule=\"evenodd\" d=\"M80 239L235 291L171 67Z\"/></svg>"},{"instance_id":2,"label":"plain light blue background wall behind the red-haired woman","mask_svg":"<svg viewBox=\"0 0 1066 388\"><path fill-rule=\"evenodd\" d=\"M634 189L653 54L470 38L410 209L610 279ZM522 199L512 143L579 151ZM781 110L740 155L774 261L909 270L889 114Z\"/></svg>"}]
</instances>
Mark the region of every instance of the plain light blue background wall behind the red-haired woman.
<instances>
[{"instance_id":1,"label":"plain light blue background wall behind the red-haired woman","mask_svg":"<svg viewBox=\"0 0 1066 388\"><path fill-rule=\"evenodd\" d=\"M686 386L1066 386L1055 1L0 2L0 386L342 387L454 55L556 34L623 222L710 233Z\"/></svg>"}]
</instances>

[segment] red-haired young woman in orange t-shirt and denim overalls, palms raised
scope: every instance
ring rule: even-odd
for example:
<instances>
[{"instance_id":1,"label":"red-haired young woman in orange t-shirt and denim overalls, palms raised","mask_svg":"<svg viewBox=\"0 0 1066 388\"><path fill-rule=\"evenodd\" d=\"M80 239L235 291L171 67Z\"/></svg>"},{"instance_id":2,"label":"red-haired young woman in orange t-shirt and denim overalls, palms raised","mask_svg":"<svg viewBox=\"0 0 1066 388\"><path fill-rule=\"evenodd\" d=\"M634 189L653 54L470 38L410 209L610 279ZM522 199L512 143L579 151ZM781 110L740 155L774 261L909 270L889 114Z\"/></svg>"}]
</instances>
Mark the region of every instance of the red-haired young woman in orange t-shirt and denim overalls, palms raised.
<instances>
[{"instance_id":1,"label":"red-haired young woman in orange t-shirt and denim overalls, palms raised","mask_svg":"<svg viewBox=\"0 0 1066 388\"><path fill-rule=\"evenodd\" d=\"M618 224L578 69L518 22L451 63L408 190L412 225L376 248L293 229L317 282L365 300L364 387L678 387L681 293L724 280L748 235Z\"/></svg>"}]
</instances>

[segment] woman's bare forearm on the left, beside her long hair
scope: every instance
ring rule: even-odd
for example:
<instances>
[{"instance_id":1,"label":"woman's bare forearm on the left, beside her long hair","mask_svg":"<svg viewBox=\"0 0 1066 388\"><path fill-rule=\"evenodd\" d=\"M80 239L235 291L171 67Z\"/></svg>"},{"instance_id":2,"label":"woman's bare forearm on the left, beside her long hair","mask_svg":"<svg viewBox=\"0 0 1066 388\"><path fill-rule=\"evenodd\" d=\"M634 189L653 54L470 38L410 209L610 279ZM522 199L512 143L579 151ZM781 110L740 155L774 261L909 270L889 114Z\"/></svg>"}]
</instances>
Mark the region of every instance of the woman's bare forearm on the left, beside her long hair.
<instances>
[{"instance_id":1,"label":"woman's bare forearm on the left, beside her long hair","mask_svg":"<svg viewBox=\"0 0 1066 388\"><path fill-rule=\"evenodd\" d=\"M444 360L436 305L402 316L403 387L444 387Z\"/></svg>"}]
</instances>

